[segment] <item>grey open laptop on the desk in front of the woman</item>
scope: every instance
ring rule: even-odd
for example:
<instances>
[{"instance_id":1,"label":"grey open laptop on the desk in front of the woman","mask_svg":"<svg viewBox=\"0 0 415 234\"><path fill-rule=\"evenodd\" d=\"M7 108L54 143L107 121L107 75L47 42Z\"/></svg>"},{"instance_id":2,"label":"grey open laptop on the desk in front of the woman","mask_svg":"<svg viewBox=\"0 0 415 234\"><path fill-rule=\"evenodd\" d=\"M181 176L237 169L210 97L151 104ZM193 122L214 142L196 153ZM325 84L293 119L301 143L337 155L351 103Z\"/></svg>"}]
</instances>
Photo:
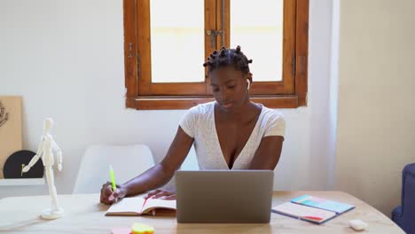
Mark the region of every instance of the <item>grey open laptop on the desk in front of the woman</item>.
<instances>
[{"instance_id":1,"label":"grey open laptop on the desk in front of the woman","mask_svg":"<svg viewBox=\"0 0 415 234\"><path fill-rule=\"evenodd\" d=\"M176 171L180 223L270 222L272 170Z\"/></svg>"}]
</instances>

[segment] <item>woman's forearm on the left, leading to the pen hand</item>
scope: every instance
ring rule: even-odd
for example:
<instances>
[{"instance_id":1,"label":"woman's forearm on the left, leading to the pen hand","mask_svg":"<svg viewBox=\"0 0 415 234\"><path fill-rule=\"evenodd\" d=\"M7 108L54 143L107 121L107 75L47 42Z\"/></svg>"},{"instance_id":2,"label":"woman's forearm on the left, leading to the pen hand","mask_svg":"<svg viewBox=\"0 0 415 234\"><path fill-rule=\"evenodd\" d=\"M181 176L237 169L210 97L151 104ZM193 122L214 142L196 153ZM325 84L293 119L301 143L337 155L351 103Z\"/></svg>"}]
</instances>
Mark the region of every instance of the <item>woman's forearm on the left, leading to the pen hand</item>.
<instances>
[{"instance_id":1,"label":"woman's forearm on the left, leading to the pen hand","mask_svg":"<svg viewBox=\"0 0 415 234\"><path fill-rule=\"evenodd\" d=\"M145 191L151 191L168 183L172 174L163 168L161 164L156 164L153 168L145 171L145 173L122 184L127 189L127 196L137 195Z\"/></svg>"}]
</instances>

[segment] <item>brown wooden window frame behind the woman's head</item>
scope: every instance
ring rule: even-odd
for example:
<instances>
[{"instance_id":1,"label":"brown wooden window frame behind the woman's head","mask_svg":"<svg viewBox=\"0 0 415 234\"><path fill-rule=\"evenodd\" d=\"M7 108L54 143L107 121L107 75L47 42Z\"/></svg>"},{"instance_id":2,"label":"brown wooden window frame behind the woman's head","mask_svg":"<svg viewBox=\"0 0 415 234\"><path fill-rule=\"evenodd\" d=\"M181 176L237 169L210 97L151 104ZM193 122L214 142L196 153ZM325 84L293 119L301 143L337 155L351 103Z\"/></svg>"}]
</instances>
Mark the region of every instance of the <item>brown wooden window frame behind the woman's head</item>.
<instances>
[{"instance_id":1,"label":"brown wooden window frame behind the woman's head","mask_svg":"<svg viewBox=\"0 0 415 234\"><path fill-rule=\"evenodd\" d=\"M205 11L220 7L220 0L205 1L209 3L205 5ZM215 4L211 4L215 1ZM126 106L137 110L188 109L193 105L213 101L207 85L208 78L205 82L198 83L151 83L150 13L142 11L149 9L149 3L150 0L123 0ZM230 0L225 0L224 3L225 12L229 12ZM292 13L284 16L284 79L282 82L253 82L250 90L252 101L270 108L307 105L309 0L285 0L284 7L284 12ZM221 11L216 12L215 27L223 28L222 23L217 23L221 22L218 20L222 17ZM290 16L294 19L286 20ZM225 22L229 23L229 14L225 17ZM289 24L286 25L286 22ZM205 20L205 27L213 28L209 24L212 22ZM225 25L225 28L229 27L229 24ZM221 36L224 36L225 46L229 47L229 30L216 37L216 44L220 44ZM205 35L205 40L209 40L208 35ZM210 53L207 44L205 43L206 55Z\"/></svg>"}]
</instances>

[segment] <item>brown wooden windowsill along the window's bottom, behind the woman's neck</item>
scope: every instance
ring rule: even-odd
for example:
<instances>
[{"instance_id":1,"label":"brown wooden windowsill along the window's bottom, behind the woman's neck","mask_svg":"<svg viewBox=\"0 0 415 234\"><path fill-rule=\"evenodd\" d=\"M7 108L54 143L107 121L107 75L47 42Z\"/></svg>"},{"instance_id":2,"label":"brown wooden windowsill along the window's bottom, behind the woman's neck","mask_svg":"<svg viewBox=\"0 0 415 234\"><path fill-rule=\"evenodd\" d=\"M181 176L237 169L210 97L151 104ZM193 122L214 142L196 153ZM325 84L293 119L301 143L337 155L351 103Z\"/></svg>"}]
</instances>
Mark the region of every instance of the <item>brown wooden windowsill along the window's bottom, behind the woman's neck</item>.
<instances>
[{"instance_id":1,"label":"brown wooden windowsill along the window's bottom, behind the woman's neck","mask_svg":"<svg viewBox=\"0 0 415 234\"><path fill-rule=\"evenodd\" d=\"M297 108L306 105L306 101L295 95L285 96L253 96L251 101L261 103L269 108ZM174 96L153 96L127 98L128 108L137 110L176 110L189 109L194 105L214 101L211 96L200 97L174 97Z\"/></svg>"}]
</instances>

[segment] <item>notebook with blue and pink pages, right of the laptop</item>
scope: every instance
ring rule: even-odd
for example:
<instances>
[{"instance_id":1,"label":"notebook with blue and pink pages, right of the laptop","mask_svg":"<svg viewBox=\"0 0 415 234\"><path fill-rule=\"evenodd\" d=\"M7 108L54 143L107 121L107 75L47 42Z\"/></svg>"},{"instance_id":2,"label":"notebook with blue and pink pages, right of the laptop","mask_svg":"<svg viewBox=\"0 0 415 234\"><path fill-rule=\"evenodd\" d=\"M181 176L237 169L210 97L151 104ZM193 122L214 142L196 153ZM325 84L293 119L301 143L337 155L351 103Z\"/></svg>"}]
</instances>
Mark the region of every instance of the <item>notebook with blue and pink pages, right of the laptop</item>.
<instances>
[{"instance_id":1,"label":"notebook with blue and pink pages, right of the laptop","mask_svg":"<svg viewBox=\"0 0 415 234\"><path fill-rule=\"evenodd\" d=\"M304 195L291 202L272 207L272 211L320 224L352 208L354 206L346 203Z\"/></svg>"}]
</instances>

